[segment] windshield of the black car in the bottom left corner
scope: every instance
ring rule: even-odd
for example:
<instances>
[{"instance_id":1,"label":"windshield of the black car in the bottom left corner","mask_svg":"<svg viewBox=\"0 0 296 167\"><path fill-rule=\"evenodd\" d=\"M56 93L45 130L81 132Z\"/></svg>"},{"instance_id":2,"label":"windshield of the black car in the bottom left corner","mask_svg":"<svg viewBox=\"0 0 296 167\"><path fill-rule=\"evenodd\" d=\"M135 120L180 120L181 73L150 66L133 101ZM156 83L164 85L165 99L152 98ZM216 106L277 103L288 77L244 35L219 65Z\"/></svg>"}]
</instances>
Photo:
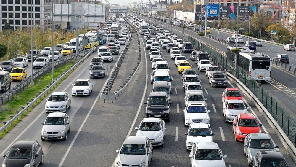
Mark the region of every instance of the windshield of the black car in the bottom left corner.
<instances>
[{"instance_id":1,"label":"windshield of the black car in the bottom left corner","mask_svg":"<svg viewBox=\"0 0 296 167\"><path fill-rule=\"evenodd\" d=\"M6 158L9 159L28 159L31 158L32 150L31 148L16 148L12 147Z\"/></svg>"}]
</instances>

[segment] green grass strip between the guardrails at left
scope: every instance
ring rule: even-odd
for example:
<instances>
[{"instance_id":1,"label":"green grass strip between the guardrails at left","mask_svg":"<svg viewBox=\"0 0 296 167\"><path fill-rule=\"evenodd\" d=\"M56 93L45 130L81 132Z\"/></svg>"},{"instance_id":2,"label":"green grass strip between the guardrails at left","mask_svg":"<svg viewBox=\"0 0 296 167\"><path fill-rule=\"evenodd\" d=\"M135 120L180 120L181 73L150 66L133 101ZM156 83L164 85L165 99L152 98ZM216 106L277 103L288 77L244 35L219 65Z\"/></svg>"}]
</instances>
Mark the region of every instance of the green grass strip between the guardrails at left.
<instances>
[{"instance_id":1,"label":"green grass strip between the guardrails at left","mask_svg":"<svg viewBox=\"0 0 296 167\"><path fill-rule=\"evenodd\" d=\"M59 76L65 71L65 69L68 70L68 68L72 66L74 62L75 61L72 60L63 66L59 66L58 68L56 68L54 70L54 76ZM70 75L70 73L68 73L66 77ZM65 78L63 78L61 81L63 81ZM31 98L35 98L35 95L38 94L40 91L43 91L43 88L46 88L46 86L49 85L49 83L51 82L52 82L52 73L48 73L43 77L41 77L40 79L34 80L35 85L33 86L29 85L28 88L25 88L25 90L23 90L21 93L18 93L10 101L7 101L6 103L3 104L3 107L0 112L0 121L8 118L15 111L19 110L22 106L26 106L26 103L30 101ZM56 88L58 85L59 83L55 85L47 94L51 93L51 91L54 90L54 88ZM39 104L43 99L44 99L44 96L41 99L39 99L33 105L33 107ZM19 123L25 116L27 116L29 112L32 111L33 107L30 107L20 117L18 117L17 120L15 120L12 123L12 125L10 125L4 131L2 131L0 133L0 139L2 139L2 137L5 136L6 133L8 133L15 125L17 125L17 123Z\"/></svg>"}]
</instances>

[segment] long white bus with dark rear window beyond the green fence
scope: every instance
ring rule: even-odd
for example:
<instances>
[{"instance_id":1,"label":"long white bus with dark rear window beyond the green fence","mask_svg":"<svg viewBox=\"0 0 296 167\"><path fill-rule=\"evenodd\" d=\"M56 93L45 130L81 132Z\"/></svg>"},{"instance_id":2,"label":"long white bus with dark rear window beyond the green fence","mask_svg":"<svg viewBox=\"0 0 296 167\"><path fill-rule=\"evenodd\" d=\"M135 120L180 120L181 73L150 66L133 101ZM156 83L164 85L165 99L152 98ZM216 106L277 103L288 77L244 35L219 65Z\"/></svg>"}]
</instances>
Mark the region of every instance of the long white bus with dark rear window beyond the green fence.
<instances>
[{"instance_id":1,"label":"long white bus with dark rear window beyond the green fence","mask_svg":"<svg viewBox=\"0 0 296 167\"><path fill-rule=\"evenodd\" d=\"M249 71L249 78L257 81L271 80L271 59L268 55L255 52L247 47L237 47L241 52L237 56L237 65ZM230 50L235 47L227 47L227 58L234 61L235 53Z\"/></svg>"}]
</instances>

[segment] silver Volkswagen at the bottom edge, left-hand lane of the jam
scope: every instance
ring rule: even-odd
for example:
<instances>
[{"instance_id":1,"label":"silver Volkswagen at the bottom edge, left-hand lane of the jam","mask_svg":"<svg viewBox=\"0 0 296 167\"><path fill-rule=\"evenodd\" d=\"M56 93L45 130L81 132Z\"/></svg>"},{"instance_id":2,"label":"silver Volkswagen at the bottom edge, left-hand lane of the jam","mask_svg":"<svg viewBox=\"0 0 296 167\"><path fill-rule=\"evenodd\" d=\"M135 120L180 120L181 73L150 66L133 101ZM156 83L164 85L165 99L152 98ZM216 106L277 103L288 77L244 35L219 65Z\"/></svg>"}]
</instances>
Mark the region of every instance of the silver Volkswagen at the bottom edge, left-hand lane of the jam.
<instances>
[{"instance_id":1,"label":"silver Volkswagen at the bottom edge, left-hand lane of the jam","mask_svg":"<svg viewBox=\"0 0 296 167\"><path fill-rule=\"evenodd\" d=\"M128 136L115 160L115 167L148 167L152 160L152 144L146 136Z\"/></svg>"}]
</instances>

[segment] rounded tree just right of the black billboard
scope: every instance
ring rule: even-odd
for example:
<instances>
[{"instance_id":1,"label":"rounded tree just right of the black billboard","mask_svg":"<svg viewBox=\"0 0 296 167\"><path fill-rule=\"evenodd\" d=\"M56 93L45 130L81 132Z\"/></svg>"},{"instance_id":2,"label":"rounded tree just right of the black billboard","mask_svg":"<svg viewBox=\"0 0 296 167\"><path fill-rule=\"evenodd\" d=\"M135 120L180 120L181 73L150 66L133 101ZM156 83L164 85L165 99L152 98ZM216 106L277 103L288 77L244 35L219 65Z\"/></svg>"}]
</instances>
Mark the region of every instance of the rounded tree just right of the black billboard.
<instances>
[{"instance_id":1,"label":"rounded tree just right of the black billboard","mask_svg":"<svg viewBox=\"0 0 296 167\"><path fill-rule=\"evenodd\" d=\"M261 11L254 13L251 17L251 25L258 31L258 37L261 31L271 25L271 16L266 16L265 12Z\"/></svg>"}]
</instances>

